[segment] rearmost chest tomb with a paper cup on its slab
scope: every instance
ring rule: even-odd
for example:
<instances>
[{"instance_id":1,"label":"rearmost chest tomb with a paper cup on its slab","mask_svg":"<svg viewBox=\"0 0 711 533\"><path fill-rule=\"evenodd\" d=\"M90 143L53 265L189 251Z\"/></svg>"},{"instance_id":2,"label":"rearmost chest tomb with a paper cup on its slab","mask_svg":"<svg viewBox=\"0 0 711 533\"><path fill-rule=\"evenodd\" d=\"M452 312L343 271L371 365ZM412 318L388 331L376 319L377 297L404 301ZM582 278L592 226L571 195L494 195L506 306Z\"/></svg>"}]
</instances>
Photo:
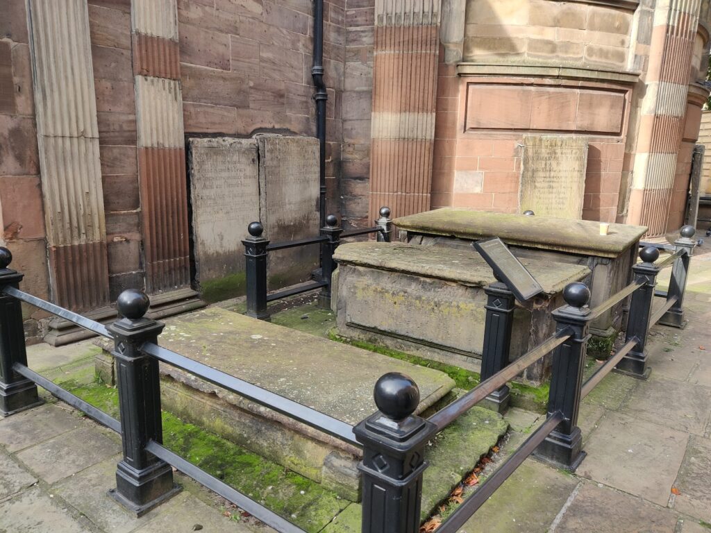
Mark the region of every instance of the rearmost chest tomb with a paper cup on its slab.
<instances>
[{"instance_id":1,"label":"rearmost chest tomb with a paper cup on its slab","mask_svg":"<svg viewBox=\"0 0 711 533\"><path fill-rule=\"evenodd\" d=\"M647 228L611 224L599 235L599 222L570 218L511 215L466 208L442 208L395 219L411 244L469 247L471 241L500 237L518 257L580 264L597 306L631 281L639 239ZM619 329L624 302L592 322L592 333L611 337Z\"/></svg>"}]
</instances>

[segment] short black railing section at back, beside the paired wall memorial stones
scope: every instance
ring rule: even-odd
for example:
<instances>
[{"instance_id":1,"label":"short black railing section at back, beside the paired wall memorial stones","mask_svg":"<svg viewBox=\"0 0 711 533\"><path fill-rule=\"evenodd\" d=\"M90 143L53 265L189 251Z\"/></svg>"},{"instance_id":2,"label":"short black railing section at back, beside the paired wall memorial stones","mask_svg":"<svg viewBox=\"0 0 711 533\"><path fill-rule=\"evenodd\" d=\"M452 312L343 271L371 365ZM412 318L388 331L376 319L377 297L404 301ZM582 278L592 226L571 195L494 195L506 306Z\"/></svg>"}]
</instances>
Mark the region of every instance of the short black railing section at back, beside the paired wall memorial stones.
<instances>
[{"instance_id":1,"label":"short black railing section at back, beside the paired wall memorial stones","mask_svg":"<svg viewBox=\"0 0 711 533\"><path fill-rule=\"evenodd\" d=\"M341 244L341 239L375 233L378 242L390 242L392 219L390 218L390 208L383 207L380 208L380 218L375 221L375 226L346 232L343 231L343 227L338 225L338 218L335 215L328 215L326 217L326 226L321 228L321 235L318 237L274 243L270 243L269 239L262 236L264 227L261 222L252 222L247 227L247 232L250 237L242 241L242 244L245 245L245 275L247 277L246 314L252 318L269 320L267 303L316 289L321 289L319 292L319 305L324 308L331 307L331 285L333 270L336 269L333 253L336 252L336 248ZM267 291L267 259L269 252L309 246L310 244L321 244L320 279L292 287L291 289L269 293Z\"/></svg>"}]
</instances>

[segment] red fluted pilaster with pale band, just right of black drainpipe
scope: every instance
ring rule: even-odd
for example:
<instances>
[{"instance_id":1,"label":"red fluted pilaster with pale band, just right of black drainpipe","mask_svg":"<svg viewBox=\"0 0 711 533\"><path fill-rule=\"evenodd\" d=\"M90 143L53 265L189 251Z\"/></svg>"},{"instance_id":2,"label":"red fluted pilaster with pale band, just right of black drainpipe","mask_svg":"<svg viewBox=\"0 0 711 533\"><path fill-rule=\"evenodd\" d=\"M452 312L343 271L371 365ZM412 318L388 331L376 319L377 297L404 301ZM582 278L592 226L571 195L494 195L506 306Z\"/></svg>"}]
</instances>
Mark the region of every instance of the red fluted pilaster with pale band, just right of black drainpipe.
<instances>
[{"instance_id":1,"label":"red fluted pilaster with pale band, just right of black drainpipe","mask_svg":"<svg viewBox=\"0 0 711 533\"><path fill-rule=\"evenodd\" d=\"M370 218L429 209L439 0L376 0Z\"/></svg>"}]
</instances>

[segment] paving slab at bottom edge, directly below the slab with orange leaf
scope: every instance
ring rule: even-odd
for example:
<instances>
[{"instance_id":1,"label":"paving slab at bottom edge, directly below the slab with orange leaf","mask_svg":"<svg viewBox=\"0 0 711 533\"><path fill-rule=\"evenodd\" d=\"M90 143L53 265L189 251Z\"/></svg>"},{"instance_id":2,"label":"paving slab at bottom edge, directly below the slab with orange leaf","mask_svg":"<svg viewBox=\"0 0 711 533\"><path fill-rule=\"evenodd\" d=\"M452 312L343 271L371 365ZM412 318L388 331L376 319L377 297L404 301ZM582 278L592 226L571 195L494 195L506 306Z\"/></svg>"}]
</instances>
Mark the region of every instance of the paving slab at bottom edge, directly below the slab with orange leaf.
<instances>
[{"instance_id":1,"label":"paving slab at bottom edge, directly below the slab with orange leaf","mask_svg":"<svg viewBox=\"0 0 711 533\"><path fill-rule=\"evenodd\" d=\"M551 533L673 533L676 524L674 512L586 482Z\"/></svg>"}]
</instances>

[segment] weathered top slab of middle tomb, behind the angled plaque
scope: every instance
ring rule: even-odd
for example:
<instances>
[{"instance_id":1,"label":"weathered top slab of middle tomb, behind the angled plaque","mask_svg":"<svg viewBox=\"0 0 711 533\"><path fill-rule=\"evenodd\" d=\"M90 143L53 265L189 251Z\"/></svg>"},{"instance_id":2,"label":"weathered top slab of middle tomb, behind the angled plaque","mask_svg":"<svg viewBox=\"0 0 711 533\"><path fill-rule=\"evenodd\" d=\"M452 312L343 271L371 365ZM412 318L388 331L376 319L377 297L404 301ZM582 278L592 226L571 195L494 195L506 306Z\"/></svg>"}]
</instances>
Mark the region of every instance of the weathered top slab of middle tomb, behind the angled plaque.
<instances>
[{"instance_id":1,"label":"weathered top slab of middle tomb, behind the angled plaque","mask_svg":"<svg viewBox=\"0 0 711 533\"><path fill-rule=\"evenodd\" d=\"M339 263L370 266L481 287L496 281L483 257L471 250L403 244L400 242L352 242L341 244L333 256ZM577 264L521 260L547 295L557 294L570 283L590 273Z\"/></svg>"}]
</instances>

